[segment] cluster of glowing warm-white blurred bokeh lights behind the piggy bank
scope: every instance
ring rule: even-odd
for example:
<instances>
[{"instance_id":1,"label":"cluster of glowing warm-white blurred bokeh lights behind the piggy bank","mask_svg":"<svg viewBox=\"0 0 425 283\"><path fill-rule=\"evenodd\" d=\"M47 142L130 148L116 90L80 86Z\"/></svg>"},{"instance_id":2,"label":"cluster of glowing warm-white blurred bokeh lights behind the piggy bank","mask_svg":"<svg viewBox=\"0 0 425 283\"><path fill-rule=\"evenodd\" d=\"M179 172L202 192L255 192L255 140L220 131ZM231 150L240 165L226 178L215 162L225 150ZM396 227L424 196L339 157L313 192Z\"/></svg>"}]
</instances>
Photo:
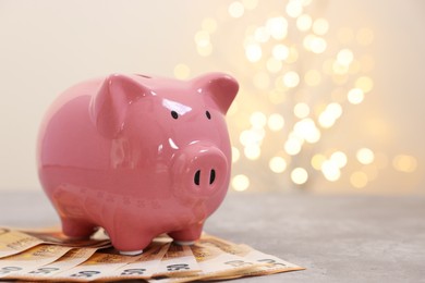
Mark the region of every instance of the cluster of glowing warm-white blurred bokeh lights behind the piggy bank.
<instances>
[{"instance_id":1,"label":"cluster of glowing warm-white blurred bokeh lights behind the piggy bank","mask_svg":"<svg viewBox=\"0 0 425 283\"><path fill-rule=\"evenodd\" d=\"M367 51L375 34L367 26L335 26L319 7L315 0L280 7L230 0L222 14L205 17L195 33L197 54L240 81L241 94L227 120L238 172L231 180L234 190L260 189L265 174L252 175L258 167L268 168L274 177L267 182L276 187L305 190L316 179L368 188L389 170L417 170L413 156L375 152L359 146L361 138L338 142L351 126L341 118L362 111L374 95L376 60ZM189 79L199 70L180 63L173 72Z\"/></svg>"}]
</instances>

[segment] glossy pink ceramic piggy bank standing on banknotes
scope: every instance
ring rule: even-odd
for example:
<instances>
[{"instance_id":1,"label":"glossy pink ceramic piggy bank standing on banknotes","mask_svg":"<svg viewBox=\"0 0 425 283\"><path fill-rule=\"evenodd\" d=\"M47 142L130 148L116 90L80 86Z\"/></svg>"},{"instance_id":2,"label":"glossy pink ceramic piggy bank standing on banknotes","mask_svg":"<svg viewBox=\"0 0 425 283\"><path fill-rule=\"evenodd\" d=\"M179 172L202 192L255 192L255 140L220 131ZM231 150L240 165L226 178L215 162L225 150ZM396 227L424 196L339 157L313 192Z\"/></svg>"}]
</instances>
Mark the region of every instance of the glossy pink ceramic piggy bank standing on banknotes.
<instances>
[{"instance_id":1,"label":"glossy pink ceramic piggy bank standing on banknotes","mask_svg":"<svg viewBox=\"0 0 425 283\"><path fill-rule=\"evenodd\" d=\"M88 237L101 226L130 255L162 233L196 241L228 189L224 115L238 89L221 73L186 82L112 74L64 91L37 149L63 233Z\"/></svg>"}]
</instances>

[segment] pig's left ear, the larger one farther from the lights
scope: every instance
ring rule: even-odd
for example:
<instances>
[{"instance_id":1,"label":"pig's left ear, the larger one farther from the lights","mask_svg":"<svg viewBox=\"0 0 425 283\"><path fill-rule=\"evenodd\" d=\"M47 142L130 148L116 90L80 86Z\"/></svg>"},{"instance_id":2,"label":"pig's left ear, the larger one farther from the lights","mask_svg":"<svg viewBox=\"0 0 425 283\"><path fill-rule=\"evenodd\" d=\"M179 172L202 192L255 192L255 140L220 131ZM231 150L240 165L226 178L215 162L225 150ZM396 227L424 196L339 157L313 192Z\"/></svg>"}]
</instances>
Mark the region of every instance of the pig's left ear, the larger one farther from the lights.
<instances>
[{"instance_id":1,"label":"pig's left ear, the larger one farther from the lights","mask_svg":"<svg viewBox=\"0 0 425 283\"><path fill-rule=\"evenodd\" d=\"M149 93L131 77L109 75L90 101L90 118L99 133L105 137L116 137L124 126L130 104Z\"/></svg>"}]
</instances>

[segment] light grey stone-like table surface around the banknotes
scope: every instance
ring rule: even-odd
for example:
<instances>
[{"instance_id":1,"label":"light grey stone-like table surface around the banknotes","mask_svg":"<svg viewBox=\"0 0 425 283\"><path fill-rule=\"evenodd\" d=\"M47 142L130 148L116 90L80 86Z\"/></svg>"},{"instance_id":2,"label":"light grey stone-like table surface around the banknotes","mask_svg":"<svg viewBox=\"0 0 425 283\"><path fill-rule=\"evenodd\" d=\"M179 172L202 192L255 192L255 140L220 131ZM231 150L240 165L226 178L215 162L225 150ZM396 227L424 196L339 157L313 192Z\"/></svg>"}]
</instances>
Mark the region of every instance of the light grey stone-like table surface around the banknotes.
<instances>
[{"instance_id":1,"label":"light grey stone-like table surface around the banknotes","mask_svg":"<svg viewBox=\"0 0 425 283\"><path fill-rule=\"evenodd\" d=\"M0 225L58 223L41 190L0 193ZM306 268L234 282L425 282L425 196L232 193L205 231Z\"/></svg>"}]
</instances>

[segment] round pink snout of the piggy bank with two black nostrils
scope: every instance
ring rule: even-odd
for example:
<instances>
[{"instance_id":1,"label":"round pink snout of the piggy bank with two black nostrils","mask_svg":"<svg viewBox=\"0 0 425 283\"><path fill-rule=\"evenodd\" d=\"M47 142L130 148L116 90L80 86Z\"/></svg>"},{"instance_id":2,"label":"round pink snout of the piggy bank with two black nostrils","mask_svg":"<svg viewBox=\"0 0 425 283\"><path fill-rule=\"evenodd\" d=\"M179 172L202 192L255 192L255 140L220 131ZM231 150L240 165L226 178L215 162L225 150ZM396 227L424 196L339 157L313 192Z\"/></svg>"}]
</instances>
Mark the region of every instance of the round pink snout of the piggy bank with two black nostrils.
<instances>
[{"instance_id":1,"label":"round pink snout of the piggy bank with two black nostrils","mask_svg":"<svg viewBox=\"0 0 425 283\"><path fill-rule=\"evenodd\" d=\"M228 179L227 158L217 147L190 145L175 157L173 175L177 193L210 196Z\"/></svg>"}]
</instances>

